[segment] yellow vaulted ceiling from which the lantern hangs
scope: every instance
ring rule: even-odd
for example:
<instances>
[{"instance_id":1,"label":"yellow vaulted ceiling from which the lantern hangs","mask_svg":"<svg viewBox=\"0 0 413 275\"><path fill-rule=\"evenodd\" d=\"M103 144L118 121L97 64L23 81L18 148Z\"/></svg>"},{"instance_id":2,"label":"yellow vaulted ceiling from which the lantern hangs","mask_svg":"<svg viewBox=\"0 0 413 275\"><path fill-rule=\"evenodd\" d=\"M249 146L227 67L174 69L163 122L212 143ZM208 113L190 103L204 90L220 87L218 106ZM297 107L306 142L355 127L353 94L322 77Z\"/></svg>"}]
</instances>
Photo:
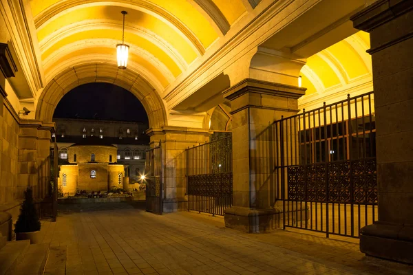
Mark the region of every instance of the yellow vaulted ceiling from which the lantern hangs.
<instances>
[{"instance_id":1,"label":"yellow vaulted ceiling from which the lantern hangs","mask_svg":"<svg viewBox=\"0 0 413 275\"><path fill-rule=\"evenodd\" d=\"M116 58L126 10L130 63L163 88L247 13L243 0L31 0L30 7L47 81L64 61Z\"/></svg>"}]
</instances>

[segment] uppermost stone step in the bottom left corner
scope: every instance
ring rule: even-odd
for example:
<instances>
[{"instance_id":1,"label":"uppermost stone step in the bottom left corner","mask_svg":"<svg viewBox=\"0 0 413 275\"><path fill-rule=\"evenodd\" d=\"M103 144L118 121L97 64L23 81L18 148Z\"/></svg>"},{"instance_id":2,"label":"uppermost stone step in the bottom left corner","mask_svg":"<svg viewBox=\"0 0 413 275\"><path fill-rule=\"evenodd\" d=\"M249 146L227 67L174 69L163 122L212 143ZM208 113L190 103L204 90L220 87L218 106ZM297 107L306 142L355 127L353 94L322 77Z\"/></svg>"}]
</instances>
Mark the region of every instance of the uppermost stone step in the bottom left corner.
<instances>
[{"instance_id":1,"label":"uppermost stone step in the bottom left corner","mask_svg":"<svg viewBox=\"0 0 413 275\"><path fill-rule=\"evenodd\" d=\"M10 275L17 270L29 246L30 240L8 241L0 250L0 275Z\"/></svg>"}]
</instances>

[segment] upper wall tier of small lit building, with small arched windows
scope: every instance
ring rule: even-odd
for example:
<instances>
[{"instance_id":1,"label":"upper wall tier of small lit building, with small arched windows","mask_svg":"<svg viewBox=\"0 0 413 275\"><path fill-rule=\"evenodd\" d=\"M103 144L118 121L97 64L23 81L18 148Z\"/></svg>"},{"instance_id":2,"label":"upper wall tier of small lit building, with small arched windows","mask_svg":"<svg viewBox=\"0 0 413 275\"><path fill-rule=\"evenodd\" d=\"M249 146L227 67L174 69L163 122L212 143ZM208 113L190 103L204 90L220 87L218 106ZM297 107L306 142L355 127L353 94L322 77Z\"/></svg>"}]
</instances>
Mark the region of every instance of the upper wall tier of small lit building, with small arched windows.
<instances>
[{"instance_id":1,"label":"upper wall tier of small lit building, with small arched windows","mask_svg":"<svg viewBox=\"0 0 413 275\"><path fill-rule=\"evenodd\" d=\"M112 162L116 162L116 153L115 146L72 145L67 148L67 160L70 163L87 163L94 154L95 162L109 162L109 155L112 155ZM76 154L76 162L74 162L74 154Z\"/></svg>"}]
</instances>

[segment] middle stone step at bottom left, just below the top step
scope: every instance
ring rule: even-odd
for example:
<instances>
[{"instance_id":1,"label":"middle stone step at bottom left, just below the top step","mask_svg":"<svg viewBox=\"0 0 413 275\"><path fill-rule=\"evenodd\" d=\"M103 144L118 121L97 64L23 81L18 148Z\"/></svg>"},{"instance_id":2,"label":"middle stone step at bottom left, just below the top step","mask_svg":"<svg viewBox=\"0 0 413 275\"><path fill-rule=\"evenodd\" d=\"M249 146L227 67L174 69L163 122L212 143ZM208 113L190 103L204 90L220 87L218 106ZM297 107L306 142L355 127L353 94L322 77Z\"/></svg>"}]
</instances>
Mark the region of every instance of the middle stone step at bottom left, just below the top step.
<instances>
[{"instance_id":1,"label":"middle stone step at bottom left, just below the top step","mask_svg":"<svg viewBox=\"0 0 413 275\"><path fill-rule=\"evenodd\" d=\"M48 243L30 245L24 254L23 261L10 275L42 275L48 253Z\"/></svg>"}]
</instances>

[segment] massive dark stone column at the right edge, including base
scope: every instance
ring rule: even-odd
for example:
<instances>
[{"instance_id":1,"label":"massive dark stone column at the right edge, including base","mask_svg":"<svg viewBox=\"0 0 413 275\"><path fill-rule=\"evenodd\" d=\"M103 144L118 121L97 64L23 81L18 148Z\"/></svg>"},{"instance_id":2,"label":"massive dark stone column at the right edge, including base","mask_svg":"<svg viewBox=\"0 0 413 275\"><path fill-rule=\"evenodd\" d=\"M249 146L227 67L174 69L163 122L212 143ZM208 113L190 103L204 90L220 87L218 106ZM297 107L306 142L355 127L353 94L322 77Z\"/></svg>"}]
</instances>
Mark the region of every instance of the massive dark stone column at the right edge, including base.
<instances>
[{"instance_id":1,"label":"massive dark stone column at the right edge, including base","mask_svg":"<svg viewBox=\"0 0 413 275\"><path fill-rule=\"evenodd\" d=\"M413 263L413 1L380 0L351 20L370 32L377 129L379 221L361 228L360 250Z\"/></svg>"}]
</instances>

